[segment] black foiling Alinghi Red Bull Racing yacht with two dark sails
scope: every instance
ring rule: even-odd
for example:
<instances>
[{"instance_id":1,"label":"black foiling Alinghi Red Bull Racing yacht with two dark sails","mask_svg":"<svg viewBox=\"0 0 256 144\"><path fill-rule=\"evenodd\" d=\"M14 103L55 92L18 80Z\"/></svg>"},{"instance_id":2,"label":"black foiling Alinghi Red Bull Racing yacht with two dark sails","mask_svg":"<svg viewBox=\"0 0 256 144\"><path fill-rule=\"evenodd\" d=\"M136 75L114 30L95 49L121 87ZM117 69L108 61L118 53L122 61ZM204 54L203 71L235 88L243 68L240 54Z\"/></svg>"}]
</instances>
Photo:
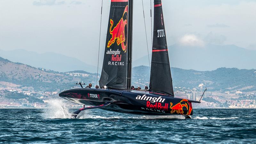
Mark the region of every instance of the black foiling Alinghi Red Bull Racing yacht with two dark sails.
<instances>
[{"instance_id":1,"label":"black foiling Alinghi Red Bull Racing yacht with two dark sails","mask_svg":"<svg viewBox=\"0 0 256 144\"><path fill-rule=\"evenodd\" d=\"M174 97L161 0L154 0L154 31L149 90L131 90L132 0L111 0L100 88L75 88L61 98L89 105L75 111L103 110L136 115L182 115L191 118L200 101Z\"/></svg>"}]
</instances>

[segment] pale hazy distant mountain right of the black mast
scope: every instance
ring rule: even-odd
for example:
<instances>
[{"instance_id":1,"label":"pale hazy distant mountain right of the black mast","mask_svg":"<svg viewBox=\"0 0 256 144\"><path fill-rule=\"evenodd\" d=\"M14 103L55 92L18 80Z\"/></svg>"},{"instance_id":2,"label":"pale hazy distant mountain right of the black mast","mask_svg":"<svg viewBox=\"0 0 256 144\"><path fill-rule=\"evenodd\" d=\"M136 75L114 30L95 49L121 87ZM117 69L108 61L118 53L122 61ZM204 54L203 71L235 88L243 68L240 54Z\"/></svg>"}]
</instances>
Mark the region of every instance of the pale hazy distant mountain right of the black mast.
<instances>
[{"instance_id":1,"label":"pale hazy distant mountain right of the black mast","mask_svg":"<svg viewBox=\"0 0 256 144\"><path fill-rule=\"evenodd\" d=\"M217 68L256 69L256 51L236 45L206 44L204 47L174 44L168 47L171 67L198 71ZM151 55L149 55L151 61ZM132 62L133 67L148 66L148 56Z\"/></svg>"}]
</instances>

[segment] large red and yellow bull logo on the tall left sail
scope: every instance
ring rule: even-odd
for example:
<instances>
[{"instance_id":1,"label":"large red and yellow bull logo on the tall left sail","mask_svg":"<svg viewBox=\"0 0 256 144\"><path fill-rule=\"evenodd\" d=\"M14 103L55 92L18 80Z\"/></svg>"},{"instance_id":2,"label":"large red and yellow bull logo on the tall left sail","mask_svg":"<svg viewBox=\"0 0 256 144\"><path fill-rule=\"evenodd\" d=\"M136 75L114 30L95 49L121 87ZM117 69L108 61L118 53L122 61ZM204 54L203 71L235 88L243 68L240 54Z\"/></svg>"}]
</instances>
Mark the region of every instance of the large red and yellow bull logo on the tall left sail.
<instances>
[{"instance_id":1,"label":"large red and yellow bull logo on the tall left sail","mask_svg":"<svg viewBox=\"0 0 256 144\"><path fill-rule=\"evenodd\" d=\"M127 14L127 12L128 12L128 5L126 5L126 7L124 8L123 17L125 13ZM121 44L123 51L126 52L127 47L126 47L126 44L124 44L125 42L124 29L125 29L125 26L127 27L127 17L125 20L123 17L119 20L119 22L116 24L116 26L113 29L112 27L114 25L114 22L112 19L110 19L111 26L109 29L109 33L112 35L112 37L108 41L107 47L110 47L112 44L116 42L117 45Z\"/></svg>"}]
</instances>

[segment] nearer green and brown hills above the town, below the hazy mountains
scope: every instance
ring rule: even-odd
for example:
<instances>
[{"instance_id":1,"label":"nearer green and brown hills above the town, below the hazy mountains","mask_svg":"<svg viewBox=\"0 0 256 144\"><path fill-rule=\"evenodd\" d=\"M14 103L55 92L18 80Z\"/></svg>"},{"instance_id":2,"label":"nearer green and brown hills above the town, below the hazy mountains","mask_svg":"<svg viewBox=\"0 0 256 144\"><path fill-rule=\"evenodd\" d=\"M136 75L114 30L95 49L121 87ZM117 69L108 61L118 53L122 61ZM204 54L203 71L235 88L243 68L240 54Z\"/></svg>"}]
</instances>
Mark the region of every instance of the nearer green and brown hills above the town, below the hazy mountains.
<instances>
[{"instance_id":1,"label":"nearer green and brown hills above the town, below the hazy mountains","mask_svg":"<svg viewBox=\"0 0 256 144\"><path fill-rule=\"evenodd\" d=\"M171 68L174 87L189 89L207 87L210 91L256 91L256 69L218 68L213 71L184 70ZM137 87L149 85L150 68L132 68L132 84ZM98 80L100 74L98 74ZM164 77L163 77L164 78ZM97 73L86 71L56 72L14 63L0 57L0 82L20 85L36 91L63 91L70 89L77 81L96 85ZM3 84L1 84L3 86Z\"/></svg>"}]
</instances>

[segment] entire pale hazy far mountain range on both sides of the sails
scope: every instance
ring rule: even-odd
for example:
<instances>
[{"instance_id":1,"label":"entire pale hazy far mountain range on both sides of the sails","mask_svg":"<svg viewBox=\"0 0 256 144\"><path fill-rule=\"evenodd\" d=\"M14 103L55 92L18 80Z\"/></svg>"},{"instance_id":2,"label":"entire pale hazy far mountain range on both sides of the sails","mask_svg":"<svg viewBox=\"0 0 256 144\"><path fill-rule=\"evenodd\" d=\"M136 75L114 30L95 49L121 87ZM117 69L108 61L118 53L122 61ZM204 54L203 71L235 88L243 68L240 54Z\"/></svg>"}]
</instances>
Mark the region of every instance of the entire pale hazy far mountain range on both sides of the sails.
<instances>
[{"instance_id":1,"label":"entire pale hazy far mountain range on both sides of the sails","mask_svg":"<svg viewBox=\"0 0 256 144\"><path fill-rule=\"evenodd\" d=\"M133 48L136 52L136 48ZM174 44L168 47L171 67L194 69L198 71L215 70L217 68L256 69L256 51L236 45L188 46ZM28 64L36 68L46 68L59 72L84 70L97 72L95 61L81 61L74 56L66 56L54 52L29 52L18 49L12 51L0 50L0 56L13 62ZM85 54L86 56L86 54ZM149 55L151 61L151 54ZM90 63L90 64L88 64ZM132 66L149 66L148 55L133 59ZM99 73L102 63L99 63Z\"/></svg>"}]
</instances>

